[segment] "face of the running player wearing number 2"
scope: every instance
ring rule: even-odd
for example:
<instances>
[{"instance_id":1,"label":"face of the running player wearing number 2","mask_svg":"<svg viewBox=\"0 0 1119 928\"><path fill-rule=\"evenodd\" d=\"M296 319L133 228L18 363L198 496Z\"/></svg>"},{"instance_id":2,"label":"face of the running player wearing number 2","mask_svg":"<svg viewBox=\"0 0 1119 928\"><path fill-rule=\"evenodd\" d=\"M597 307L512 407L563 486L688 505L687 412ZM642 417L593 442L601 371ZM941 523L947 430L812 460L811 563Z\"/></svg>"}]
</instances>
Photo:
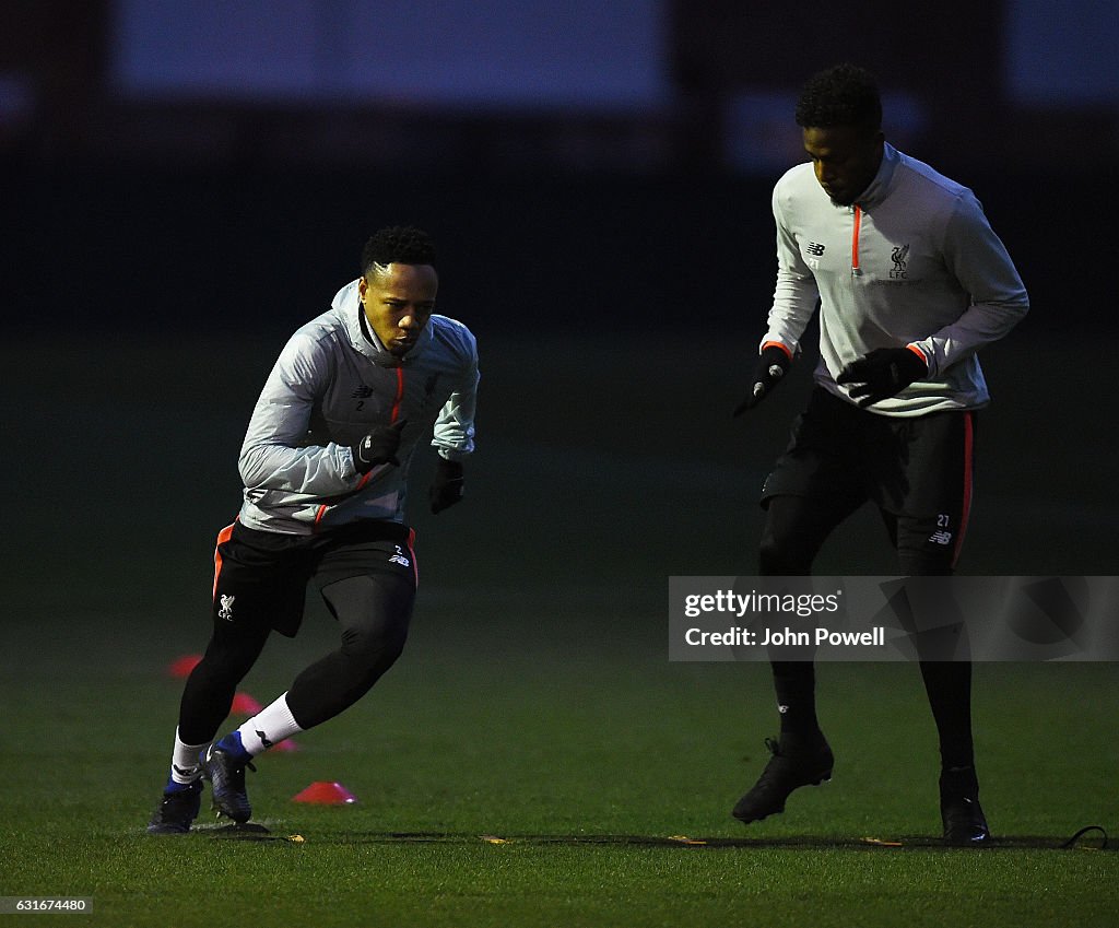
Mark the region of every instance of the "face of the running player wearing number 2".
<instances>
[{"instance_id":1,"label":"face of the running player wearing number 2","mask_svg":"<svg viewBox=\"0 0 1119 928\"><path fill-rule=\"evenodd\" d=\"M394 355L405 355L435 309L439 276L430 264L388 264L358 281L365 318L380 344Z\"/></svg>"}]
</instances>

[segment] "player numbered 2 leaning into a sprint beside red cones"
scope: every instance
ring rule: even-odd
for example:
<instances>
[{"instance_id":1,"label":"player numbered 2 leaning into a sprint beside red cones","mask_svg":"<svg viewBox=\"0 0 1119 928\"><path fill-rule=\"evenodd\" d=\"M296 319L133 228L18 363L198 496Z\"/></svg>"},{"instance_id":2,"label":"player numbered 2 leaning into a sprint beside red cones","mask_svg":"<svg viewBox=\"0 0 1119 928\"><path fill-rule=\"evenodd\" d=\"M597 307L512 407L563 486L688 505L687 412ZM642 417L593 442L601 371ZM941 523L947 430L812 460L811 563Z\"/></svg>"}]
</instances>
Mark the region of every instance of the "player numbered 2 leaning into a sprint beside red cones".
<instances>
[{"instance_id":1,"label":"player numbered 2 leaning into a sprint beside red cones","mask_svg":"<svg viewBox=\"0 0 1119 928\"><path fill-rule=\"evenodd\" d=\"M474 447L477 346L434 315L434 257L421 229L377 232L361 276L292 336L264 384L241 449L244 502L218 535L213 635L182 693L152 834L190 829L204 778L214 807L247 822L252 758L352 705L404 647L417 580L403 521L412 452L433 426L439 513L462 498ZM295 635L311 582L340 647L211 743L270 632Z\"/></svg>"}]
</instances>

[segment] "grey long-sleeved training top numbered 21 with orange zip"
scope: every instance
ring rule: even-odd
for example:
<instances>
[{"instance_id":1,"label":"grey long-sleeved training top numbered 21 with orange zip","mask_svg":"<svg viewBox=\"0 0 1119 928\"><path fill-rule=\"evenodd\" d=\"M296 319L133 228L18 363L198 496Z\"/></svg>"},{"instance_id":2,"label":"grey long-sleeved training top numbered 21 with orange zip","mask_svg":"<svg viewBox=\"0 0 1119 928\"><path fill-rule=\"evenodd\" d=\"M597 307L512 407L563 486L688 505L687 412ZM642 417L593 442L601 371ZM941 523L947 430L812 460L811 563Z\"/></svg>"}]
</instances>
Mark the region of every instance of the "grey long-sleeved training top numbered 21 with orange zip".
<instances>
[{"instance_id":1,"label":"grey long-sleeved training top numbered 21 with orange zip","mask_svg":"<svg viewBox=\"0 0 1119 928\"><path fill-rule=\"evenodd\" d=\"M810 163L773 189L778 274L762 345L796 354L820 301L815 379L849 401L839 372L875 348L913 345L929 375L872 412L978 409L990 396L976 350L1006 335L1029 301L1006 247L967 187L886 144L855 206L836 206Z\"/></svg>"}]
</instances>

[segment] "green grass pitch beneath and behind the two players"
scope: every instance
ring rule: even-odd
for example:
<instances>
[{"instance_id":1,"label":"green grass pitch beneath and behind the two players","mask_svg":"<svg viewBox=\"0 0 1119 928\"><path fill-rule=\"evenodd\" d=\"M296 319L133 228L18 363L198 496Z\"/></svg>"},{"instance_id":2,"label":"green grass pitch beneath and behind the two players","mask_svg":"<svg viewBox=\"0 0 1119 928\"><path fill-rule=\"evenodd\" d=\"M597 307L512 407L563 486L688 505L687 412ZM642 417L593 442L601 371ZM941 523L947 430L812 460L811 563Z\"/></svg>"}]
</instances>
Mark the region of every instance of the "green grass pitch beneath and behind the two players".
<instances>
[{"instance_id":1,"label":"green grass pitch beneath and behind the two players","mask_svg":"<svg viewBox=\"0 0 1119 928\"><path fill-rule=\"evenodd\" d=\"M750 572L756 484L798 397L740 426L730 347L674 358L687 390L660 391L640 379L653 344L556 344L553 362L518 362L534 344L483 351L468 499L415 516L421 594L404 657L299 751L248 775L261 840L229 836L205 810L185 837L144 825L181 686L167 665L205 644L213 535L236 509L236 448L278 346L255 346L241 369L244 351L199 366L201 345L158 363L149 344L103 346L96 371L78 348L6 350L19 385L3 397L9 421L55 448L65 416L67 447L83 451L76 469L51 452L16 475L0 896L90 897L93 915L36 924L111 926L1119 924L1113 665L976 667L990 850L934 840L934 732L911 665L821 665L835 778L782 816L731 819L774 733L769 672L669 663L667 578ZM965 566L1108 573L1117 507L1103 476L1040 495L1008 465L1017 360L1007 348L1005 383L991 376L1006 419L993 411L981 433L989 463ZM1057 472L1076 441L1034 449L1028 467ZM54 491L66 481L68 500ZM821 572L890 572L881 529L861 518L849 531L862 543L829 547ZM1038 522L1047 543L1022 545ZM332 646L330 625L312 602L300 637L270 643L242 688L273 699ZM291 802L316 780L358 802ZM1109 846L1060 847L1085 825Z\"/></svg>"}]
</instances>

